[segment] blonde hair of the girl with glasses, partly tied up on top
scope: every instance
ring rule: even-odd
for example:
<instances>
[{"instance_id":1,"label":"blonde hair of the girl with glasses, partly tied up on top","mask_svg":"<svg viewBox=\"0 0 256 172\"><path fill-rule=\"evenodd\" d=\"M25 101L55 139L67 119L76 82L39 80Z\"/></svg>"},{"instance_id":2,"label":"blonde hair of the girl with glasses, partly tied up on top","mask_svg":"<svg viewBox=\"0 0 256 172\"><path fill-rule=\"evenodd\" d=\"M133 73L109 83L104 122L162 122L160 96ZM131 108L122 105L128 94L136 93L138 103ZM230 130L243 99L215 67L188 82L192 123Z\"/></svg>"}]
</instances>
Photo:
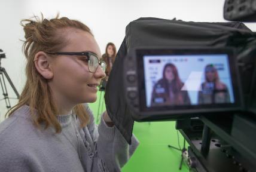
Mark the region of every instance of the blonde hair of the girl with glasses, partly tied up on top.
<instances>
[{"instance_id":1,"label":"blonde hair of the girl with glasses, partly tied up on top","mask_svg":"<svg viewBox=\"0 0 256 172\"><path fill-rule=\"evenodd\" d=\"M45 128L53 125L56 133L60 133L62 128L57 120L57 108L53 101L51 90L47 84L47 79L43 78L36 70L33 62L35 54L39 51L56 52L66 44L65 34L59 32L60 29L81 29L92 35L89 27L77 20L71 20L67 17L59 19L59 14L54 19L44 19L41 15L34 16L35 20L25 19L21 21L21 25L25 31L25 41L23 44L23 52L25 53L28 63L26 64L27 81L20 95L19 102L11 108L6 116L11 116L17 109L23 105L28 105L31 110L33 122L37 127L42 122ZM35 109L36 114L35 115ZM80 127L84 127L89 122L89 115L86 108L79 104L74 108L75 114L80 119Z\"/></svg>"}]
</instances>

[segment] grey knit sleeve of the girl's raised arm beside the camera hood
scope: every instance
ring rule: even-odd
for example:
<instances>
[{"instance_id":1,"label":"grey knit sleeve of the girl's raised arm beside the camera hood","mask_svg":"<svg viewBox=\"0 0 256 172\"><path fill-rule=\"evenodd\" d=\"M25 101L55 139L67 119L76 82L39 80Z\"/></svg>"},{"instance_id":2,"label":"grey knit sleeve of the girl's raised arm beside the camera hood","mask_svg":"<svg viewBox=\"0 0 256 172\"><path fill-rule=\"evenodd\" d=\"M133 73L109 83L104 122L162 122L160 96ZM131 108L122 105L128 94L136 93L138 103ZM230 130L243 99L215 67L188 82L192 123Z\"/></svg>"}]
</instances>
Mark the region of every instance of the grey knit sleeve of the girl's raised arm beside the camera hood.
<instances>
[{"instance_id":1,"label":"grey knit sleeve of the girl's raised arm beside the camera hood","mask_svg":"<svg viewBox=\"0 0 256 172\"><path fill-rule=\"evenodd\" d=\"M97 162L94 168L101 169L101 171L121 171L121 167L126 164L139 145L136 137L132 136L132 144L129 145L118 129L108 127L103 118L100 119L98 127L92 120L88 127L93 142L96 143L95 161Z\"/></svg>"}]
</instances>

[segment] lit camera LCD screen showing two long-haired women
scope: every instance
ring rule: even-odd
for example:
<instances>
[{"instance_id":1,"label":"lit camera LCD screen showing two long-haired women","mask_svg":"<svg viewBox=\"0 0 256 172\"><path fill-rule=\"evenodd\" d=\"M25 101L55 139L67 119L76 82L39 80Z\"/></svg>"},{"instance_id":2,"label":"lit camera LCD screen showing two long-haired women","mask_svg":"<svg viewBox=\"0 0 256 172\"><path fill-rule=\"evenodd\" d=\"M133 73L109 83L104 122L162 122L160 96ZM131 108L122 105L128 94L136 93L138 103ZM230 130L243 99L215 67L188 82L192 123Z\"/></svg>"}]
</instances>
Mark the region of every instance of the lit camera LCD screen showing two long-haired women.
<instances>
[{"instance_id":1,"label":"lit camera LCD screen showing two long-haired women","mask_svg":"<svg viewBox=\"0 0 256 172\"><path fill-rule=\"evenodd\" d=\"M225 50L139 51L141 110L239 104L234 60ZM142 60L143 59L143 60ZM143 62L142 62L143 61Z\"/></svg>"}]
</instances>

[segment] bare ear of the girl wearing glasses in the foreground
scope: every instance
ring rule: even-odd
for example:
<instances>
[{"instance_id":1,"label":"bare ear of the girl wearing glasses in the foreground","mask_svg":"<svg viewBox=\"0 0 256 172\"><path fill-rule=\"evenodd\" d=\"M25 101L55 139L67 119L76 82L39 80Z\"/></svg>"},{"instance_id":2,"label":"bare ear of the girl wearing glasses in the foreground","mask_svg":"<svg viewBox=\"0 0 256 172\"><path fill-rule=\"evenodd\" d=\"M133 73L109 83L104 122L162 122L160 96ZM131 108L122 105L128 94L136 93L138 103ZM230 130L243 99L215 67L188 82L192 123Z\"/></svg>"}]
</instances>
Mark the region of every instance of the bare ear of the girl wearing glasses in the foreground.
<instances>
[{"instance_id":1,"label":"bare ear of the girl wearing glasses in the foreground","mask_svg":"<svg viewBox=\"0 0 256 172\"><path fill-rule=\"evenodd\" d=\"M51 68L51 57L46 53L39 51L35 54L34 64L38 73L42 75L45 79L53 78L53 69Z\"/></svg>"}]
</instances>

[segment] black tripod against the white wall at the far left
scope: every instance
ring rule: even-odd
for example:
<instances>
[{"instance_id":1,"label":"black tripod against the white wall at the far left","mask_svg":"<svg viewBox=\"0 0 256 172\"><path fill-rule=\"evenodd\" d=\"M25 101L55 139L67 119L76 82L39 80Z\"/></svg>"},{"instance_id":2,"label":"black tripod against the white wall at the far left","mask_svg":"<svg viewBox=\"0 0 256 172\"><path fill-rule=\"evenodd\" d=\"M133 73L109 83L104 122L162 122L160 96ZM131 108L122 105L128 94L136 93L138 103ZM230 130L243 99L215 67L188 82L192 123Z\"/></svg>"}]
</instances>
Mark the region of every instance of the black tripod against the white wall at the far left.
<instances>
[{"instance_id":1,"label":"black tripod against the white wall at the far left","mask_svg":"<svg viewBox=\"0 0 256 172\"><path fill-rule=\"evenodd\" d=\"M11 88L13 88L13 91L16 94L17 99L20 98L20 95L19 95L18 91L16 90L16 88L14 87L14 84L11 81L11 79L10 79L8 73L6 72L6 70L4 69L4 67L1 67L1 59L5 58L5 54L1 53L1 52L2 52L2 50L0 49L0 84L1 84L1 88L2 88L2 94L4 95L6 108L10 109L11 103L10 103L10 98L8 97L4 76L7 79L7 81L9 82L9 84L11 85Z\"/></svg>"}]
</instances>

